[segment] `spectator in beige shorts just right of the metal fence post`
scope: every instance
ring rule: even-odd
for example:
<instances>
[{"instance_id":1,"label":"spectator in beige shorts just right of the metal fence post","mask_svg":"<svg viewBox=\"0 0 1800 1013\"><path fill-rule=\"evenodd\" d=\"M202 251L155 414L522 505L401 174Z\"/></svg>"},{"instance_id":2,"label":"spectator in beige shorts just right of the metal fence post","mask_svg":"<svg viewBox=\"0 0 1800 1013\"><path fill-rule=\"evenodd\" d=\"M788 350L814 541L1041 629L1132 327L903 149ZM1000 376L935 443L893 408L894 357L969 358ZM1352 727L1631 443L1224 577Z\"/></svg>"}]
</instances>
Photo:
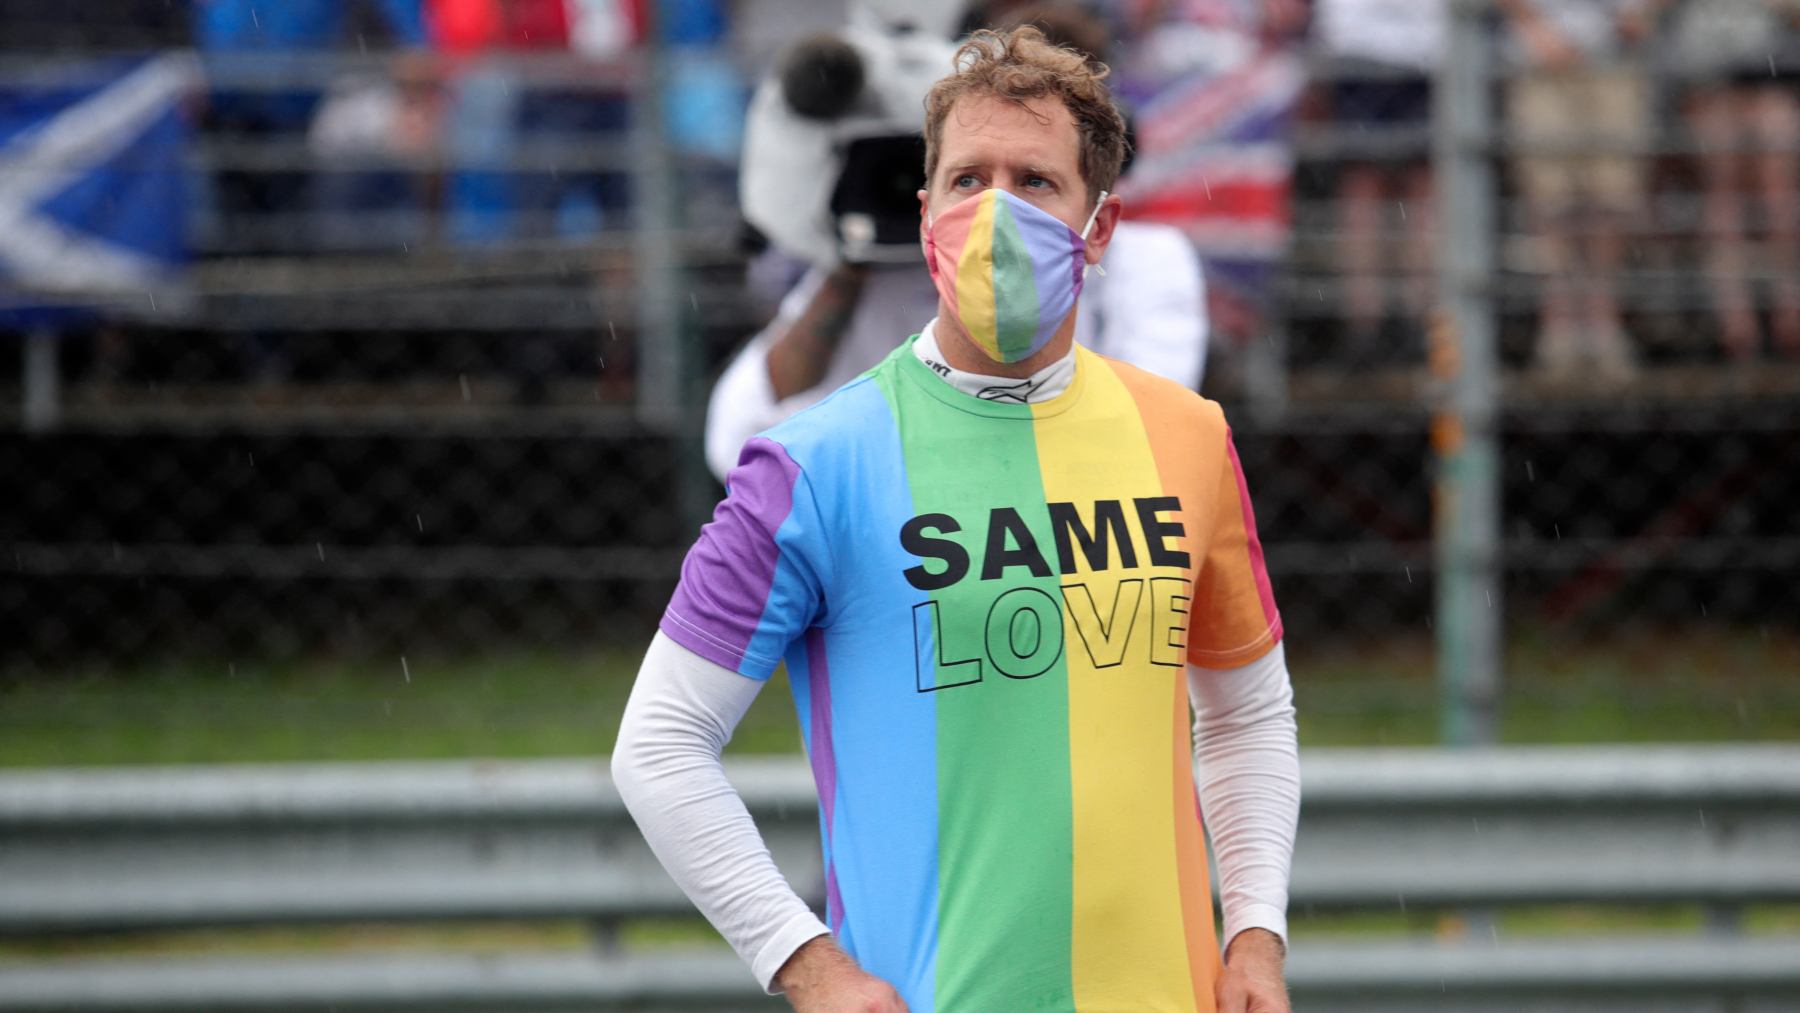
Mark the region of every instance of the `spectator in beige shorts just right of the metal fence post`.
<instances>
[{"instance_id":1,"label":"spectator in beige shorts just right of the metal fence post","mask_svg":"<svg viewBox=\"0 0 1800 1013\"><path fill-rule=\"evenodd\" d=\"M1651 140L1640 50L1649 0L1501 0L1510 29L1507 119L1541 241L1535 365L1546 376L1629 380L1618 300L1625 221L1643 205Z\"/></svg>"}]
</instances>

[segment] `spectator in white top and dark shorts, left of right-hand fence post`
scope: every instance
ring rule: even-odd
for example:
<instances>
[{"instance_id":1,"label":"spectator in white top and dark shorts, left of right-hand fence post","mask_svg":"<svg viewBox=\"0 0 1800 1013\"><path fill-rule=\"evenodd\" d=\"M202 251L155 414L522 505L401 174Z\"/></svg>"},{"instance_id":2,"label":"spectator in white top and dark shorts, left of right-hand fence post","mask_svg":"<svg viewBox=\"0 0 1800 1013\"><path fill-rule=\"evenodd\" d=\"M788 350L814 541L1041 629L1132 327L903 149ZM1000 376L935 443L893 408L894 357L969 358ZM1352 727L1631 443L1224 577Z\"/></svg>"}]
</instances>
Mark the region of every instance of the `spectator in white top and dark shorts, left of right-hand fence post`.
<instances>
[{"instance_id":1,"label":"spectator in white top and dark shorts, left of right-hand fence post","mask_svg":"<svg viewBox=\"0 0 1800 1013\"><path fill-rule=\"evenodd\" d=\"M1431 76L1444 0L1319 0L1330 108L1345 133L1337 171L1337 272L1352 365L1411 358L1431 299ZM1395 257L1388 238L1400 234ZM1390 317L1390 279L1400 315ZM1404 331L1400 322L1406 320Z\"/></svg>"}]
</instances>

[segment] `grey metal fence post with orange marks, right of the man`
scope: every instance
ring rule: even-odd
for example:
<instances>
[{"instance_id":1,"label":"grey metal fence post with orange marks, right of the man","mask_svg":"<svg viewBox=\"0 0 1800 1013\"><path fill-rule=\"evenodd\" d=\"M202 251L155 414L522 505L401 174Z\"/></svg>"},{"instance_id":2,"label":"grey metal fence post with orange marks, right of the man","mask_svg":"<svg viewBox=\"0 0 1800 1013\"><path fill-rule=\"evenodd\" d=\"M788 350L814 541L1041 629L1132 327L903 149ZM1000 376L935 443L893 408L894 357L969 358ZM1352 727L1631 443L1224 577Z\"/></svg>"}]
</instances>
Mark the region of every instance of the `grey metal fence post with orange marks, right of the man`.
<instances>
[{"instance_id":1,"label":"grey metal fence post with orange marks, right of the man","mask_svg":"<svg viewBox=\"0 0 1800 1013\"><path fill-rule=\"evenodd\" d=\"M1438 405L1433 540L1442 732L1494 741L1501 678L1499 371L1494 335L1494 23L1485 0L1451 4L1436 72L1438 313L1431 369Z\"/></svg>"}]
</instances>

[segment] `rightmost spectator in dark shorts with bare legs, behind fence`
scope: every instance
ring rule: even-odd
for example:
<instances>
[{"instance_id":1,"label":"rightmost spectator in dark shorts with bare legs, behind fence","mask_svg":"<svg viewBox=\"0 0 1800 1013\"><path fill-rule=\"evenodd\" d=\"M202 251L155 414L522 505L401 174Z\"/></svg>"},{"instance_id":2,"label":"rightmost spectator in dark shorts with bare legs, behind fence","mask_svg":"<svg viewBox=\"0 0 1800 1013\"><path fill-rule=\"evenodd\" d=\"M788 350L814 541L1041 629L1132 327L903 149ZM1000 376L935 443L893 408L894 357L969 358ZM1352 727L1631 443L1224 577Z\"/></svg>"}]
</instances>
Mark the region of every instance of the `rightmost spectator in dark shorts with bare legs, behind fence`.
<instances>
[{"instance_id":1,"label":"rightmost spectator in dark shorts with bare legs, behind fence","mask_svg":"<svg viewBox=\"0 0 1800 1013\"><path fill-rule=\"evenodd\" d=\"M1669 0L1665 0L1669 2ZM1744 196L1760 202L1773 347L1800 356L1800 2L1674 0L1670 65L1699 144L1703 227L1719 344L1757 356Z\"/></svg>"}]
</instances>

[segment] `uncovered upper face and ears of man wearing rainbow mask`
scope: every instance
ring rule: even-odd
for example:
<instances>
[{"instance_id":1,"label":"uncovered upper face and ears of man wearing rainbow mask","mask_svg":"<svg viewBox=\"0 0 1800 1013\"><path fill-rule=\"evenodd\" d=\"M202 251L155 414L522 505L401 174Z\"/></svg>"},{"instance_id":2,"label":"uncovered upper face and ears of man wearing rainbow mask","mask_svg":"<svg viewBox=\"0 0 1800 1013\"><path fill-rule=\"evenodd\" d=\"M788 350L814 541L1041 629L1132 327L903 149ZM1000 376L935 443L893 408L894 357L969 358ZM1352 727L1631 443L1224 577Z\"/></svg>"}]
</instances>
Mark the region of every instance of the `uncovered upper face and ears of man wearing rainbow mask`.
<instances>
[{"instance_id":1,"label":"uncovered upper face and ears of man wearing rainbow mask","mask_svg":"<svg viewBox=\"0 0 1800 1013\"><path fill-rule=\"evenodd\" d=\"M1080 135L1067 106L1057 99L1030 99L1021 106L994 95L965 95L950 106L938 144L938 169L918 194L920 211L938 216L990 187L1082 230L1093 205L1080 169ZM1105 203L1116 207L1116 202L1107 198ZM1102 209L1087 236L1089 263L1100 261L1116 218L1116 211ZM923 214L920 229L925 229Z\"/></svg>"}]
</instances>

